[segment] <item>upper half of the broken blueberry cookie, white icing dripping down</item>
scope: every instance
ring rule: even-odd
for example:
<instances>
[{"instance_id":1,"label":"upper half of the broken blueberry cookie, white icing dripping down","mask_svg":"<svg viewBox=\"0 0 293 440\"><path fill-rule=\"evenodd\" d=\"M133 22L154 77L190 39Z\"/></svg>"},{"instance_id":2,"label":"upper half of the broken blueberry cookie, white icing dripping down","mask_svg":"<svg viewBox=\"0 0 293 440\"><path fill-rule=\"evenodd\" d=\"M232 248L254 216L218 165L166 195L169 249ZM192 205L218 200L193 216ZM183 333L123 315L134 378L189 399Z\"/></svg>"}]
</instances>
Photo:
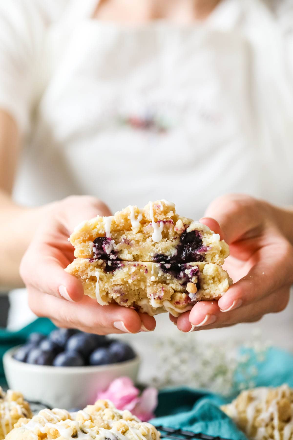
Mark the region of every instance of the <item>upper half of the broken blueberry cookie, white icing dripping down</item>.
<instances>
[{"instance_id":1,"label":"upper half of the broken blueberry cookie, white icing dripping down","mask_svg":"<svg viewBox=\"0 0 293 440\"><path fill-rule=\"evenodd\" d=\"M112 217L97 216L76 227L69 238L78 258L223 264L228 245L198 222L179 216L174 203L127 206Z\"/></svg>"}]
</instances>

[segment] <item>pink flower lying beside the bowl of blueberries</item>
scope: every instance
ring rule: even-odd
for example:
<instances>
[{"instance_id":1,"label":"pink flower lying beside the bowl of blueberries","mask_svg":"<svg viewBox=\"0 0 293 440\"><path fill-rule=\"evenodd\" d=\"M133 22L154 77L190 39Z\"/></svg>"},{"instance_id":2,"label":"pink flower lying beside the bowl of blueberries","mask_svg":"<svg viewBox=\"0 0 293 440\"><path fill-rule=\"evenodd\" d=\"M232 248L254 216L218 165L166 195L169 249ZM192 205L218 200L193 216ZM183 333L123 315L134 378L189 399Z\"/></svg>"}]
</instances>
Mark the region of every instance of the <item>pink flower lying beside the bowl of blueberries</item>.
<instances>
[{"instance_id":1,"label":"pink flower lying beside the bowl of blueberries","mask_svg":"<svg viewBox=\"0 0 293 440\"><path fill-rule=\"evenodd\" d=\"M123 377L112 381L106 391L98 392L97 399L109 399L117 409L129 410L142 422L146 422L154 417L158 392L155 388L146 388L139 396L139 390L133 381Z\"/></svg>"}]
</instances>

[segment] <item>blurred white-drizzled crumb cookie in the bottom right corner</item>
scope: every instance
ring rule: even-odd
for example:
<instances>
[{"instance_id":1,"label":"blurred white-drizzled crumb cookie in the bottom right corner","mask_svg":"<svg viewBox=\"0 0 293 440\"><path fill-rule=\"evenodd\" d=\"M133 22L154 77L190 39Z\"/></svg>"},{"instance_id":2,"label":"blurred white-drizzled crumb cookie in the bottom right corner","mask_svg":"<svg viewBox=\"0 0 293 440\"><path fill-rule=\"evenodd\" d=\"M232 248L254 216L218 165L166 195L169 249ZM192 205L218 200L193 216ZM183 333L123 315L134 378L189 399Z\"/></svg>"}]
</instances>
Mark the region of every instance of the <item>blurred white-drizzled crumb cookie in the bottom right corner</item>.
<instances>
[{"instance_id":1,"label":"blurred white-drizzled crumb cookie in the bottom right corner","mask_svg":"<svg viewBox=\"0 0 293 440\"><path fill-rule=\"evenodd\" d=\"M293 440L293 389L288 385L243 391L221 409L250 439Z\"/></svg>"}]
</instances>

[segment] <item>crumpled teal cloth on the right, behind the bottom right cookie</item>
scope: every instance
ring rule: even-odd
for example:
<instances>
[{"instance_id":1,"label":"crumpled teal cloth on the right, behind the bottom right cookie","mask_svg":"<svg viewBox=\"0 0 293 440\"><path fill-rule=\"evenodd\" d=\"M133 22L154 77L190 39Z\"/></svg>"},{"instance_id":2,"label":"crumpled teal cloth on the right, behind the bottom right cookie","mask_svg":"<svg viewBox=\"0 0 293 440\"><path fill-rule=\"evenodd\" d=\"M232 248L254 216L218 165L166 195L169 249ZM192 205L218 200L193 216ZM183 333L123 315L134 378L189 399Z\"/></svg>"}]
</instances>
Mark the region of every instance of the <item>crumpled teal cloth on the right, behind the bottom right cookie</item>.
<instances>
[{"instance_id":1,"label":"crumpled teal cloth on the right, behind the bottom right cookie","mask_svg":"<svg viewBox=\"0 0 293 440\"><path fill-rule=\"evenodd\" d=\"M242 350L246 352L247 350ZM269 348L263 361L251 357L257 374L253 386L279 386L287 383L293 387L293 354L279 348ZM199 374L204 374L199 372ZM236 384L243 381L236 372ZM194 433L220 436L224 439L244 440L246 436L226 416L219 406L230 402L237 391L227 397L217 396L204 390L188 388L167 389L159 393L154 425L183 429Z\"/></svg>"}]
</instances>

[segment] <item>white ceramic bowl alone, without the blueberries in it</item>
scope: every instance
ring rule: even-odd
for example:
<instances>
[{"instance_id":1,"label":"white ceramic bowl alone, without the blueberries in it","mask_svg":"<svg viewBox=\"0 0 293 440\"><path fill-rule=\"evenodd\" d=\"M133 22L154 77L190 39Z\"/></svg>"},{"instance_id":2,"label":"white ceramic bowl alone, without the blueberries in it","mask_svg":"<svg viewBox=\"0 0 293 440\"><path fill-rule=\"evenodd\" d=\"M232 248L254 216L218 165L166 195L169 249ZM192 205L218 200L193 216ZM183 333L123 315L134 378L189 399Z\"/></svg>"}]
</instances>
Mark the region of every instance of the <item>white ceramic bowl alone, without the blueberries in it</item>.
<instances>
[{"instance_id":1,"label":"white ceramic bowl alone, without the blueberries in it","mask_svg":"<svg viewBox=\"0 0 293 440\"><path fill-rule=\"evenodd\" d=\"M22 392L27 400L51 408L83 408L94 403L98 391L105 390L113 379L128 376L137 379L140 359L111 365L89 367L51 367L31 365L13 358L18 347L4 357L4 372L10 389Z\"/></svg>"}]
</instances>

